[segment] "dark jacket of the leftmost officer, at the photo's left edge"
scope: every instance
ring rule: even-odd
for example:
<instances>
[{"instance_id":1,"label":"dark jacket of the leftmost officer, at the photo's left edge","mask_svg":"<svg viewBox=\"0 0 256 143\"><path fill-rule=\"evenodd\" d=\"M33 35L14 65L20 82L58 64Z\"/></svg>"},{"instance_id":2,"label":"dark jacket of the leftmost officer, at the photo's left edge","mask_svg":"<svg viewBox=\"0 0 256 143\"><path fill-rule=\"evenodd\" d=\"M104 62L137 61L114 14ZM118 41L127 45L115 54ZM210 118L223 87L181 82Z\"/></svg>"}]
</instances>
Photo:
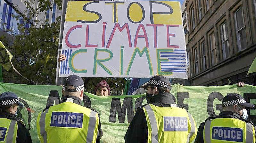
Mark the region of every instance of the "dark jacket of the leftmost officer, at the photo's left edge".
<instances>
[{"instance_id":1,"label":"dark jacket of the leftmost officer, at the photo's left edge","mask_svg":"<svg viewBox=\"0 0 256 143\"><path fill-rule=\"evenodd\" d=\"M18 124L16 143L32 143L29 130L26 128L21 119L16 118L16 115L9 112L0 112L0 118L16 120Z\"/></svg>"}]
</instances>

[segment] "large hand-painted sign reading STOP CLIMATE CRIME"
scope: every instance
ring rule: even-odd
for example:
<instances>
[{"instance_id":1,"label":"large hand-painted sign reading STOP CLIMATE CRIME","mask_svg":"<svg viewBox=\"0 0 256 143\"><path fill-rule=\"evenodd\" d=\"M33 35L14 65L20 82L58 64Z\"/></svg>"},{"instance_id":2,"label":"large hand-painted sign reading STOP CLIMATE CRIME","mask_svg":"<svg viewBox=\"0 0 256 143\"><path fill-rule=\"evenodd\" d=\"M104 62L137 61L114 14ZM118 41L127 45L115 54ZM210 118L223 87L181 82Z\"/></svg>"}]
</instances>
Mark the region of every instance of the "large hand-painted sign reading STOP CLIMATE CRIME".
<instances>
[{"instance_id":1,"label":"large hand-painted sign reading STOP CLIMATE CRIME","mask_svg":"<svg viewBox=\"0 0 256 143\"><path fill-rule=\"evenodd\" d=\"M69 1L60 77L187 78L179 2Z\"/></svg>"}]
</instances>

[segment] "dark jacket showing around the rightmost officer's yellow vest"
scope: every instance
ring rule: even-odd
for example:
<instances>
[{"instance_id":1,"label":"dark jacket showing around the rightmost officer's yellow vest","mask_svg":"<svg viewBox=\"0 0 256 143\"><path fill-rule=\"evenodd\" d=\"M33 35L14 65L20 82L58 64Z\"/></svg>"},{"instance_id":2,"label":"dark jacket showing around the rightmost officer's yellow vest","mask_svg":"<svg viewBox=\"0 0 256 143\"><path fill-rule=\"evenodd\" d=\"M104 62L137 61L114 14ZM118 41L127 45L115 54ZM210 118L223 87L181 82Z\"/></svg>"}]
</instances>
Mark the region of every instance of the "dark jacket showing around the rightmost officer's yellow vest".
<instances>
[{"instance_id":1,"label":"dark jacket showing around the rightmost officer's yellow vest","mask_svg":"<svg viewBox=\"0 0 256 143\"><path fill-rule=\"evenodd\" d=\"M242 121L245 121L247 123L251 123L252 124L252 122L250 120L244 120L237 113L234 113L234 112L231 112L231 111L222 111L222 112L219 113L218 117L213 117L213 118L210 117L210 118L207 118L205 121L210 120L210 119L214 119L214 118L235 118L235 119L239 119L239 120L242 120ZM204 141L203 141L203 128L204 128L204 125L205 125L205 122L202 122L200 124L200 126L198 128L198 131L197 131L197 135L196 135L194 143L204 143ZM256 129L255 126L254 126L254 129Z\"/></svg>"}]
</instances>

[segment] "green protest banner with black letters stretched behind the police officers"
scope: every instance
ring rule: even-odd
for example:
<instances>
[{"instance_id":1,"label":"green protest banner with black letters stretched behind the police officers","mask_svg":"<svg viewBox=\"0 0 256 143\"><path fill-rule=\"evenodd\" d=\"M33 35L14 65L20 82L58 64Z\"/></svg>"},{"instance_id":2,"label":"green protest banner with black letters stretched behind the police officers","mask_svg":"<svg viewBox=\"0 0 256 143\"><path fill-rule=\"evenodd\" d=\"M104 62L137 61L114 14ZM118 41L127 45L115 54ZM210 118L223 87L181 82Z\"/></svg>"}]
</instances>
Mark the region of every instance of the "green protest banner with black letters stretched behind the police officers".
<instances>
[{"instance_id":1,"label":"green protest banner with black letters stretched behind the police officers","mask_svg":"<svg viewBox=\"0 0 256 143\"><path fill-rule=\"evenodd\" d=\"M33 143L39 143L36 129L36 119L40 111L46 105L55 105L60 103L62 96L62 87L55 85L22 85L11 83L0 83L0 92L11 91L16 93L21 102L25 105L21 109L22 118L29 128ZM236 85L217 86L217 87L199 87L182 86L175 84L172 86L172 95L176 98L176 103L183 105L192 114L197 127L206 118L217 116L222 110L221 100L227 93L238 93L244 96L247 102L256 104L256 87L245 85L237 87ZM143 95L135 96L110 96L101 97L86 93L84 97L84 106L91 106L99 112L103 137L101 142L124 142L124 135L131 122L136 108L146 104ZM248 112L249 118L256 117L255 110Z\"/></svg>"}]
</instances>

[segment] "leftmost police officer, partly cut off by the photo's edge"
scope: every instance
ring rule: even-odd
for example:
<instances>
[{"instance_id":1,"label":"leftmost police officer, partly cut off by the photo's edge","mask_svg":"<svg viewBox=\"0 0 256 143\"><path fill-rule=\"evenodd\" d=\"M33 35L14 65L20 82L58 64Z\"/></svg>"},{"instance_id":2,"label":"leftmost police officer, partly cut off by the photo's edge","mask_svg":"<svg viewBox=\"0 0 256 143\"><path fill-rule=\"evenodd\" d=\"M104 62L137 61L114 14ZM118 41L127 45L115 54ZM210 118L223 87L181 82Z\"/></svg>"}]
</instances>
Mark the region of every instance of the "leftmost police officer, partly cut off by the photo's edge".
<instances>
[{"instance_id":1,"label":"leftmost police officer, partly cut off by the photo's edge","mask_svg":"<svg viewBox=\"0 0 256 143\"><path fill-rule=\"evenodd\" d=\"M29 130L20 118L17 118L18 106L23 107L19 97L12 92L0 95L0 142L32 143Z\"/></svg>"}]
</instances>

